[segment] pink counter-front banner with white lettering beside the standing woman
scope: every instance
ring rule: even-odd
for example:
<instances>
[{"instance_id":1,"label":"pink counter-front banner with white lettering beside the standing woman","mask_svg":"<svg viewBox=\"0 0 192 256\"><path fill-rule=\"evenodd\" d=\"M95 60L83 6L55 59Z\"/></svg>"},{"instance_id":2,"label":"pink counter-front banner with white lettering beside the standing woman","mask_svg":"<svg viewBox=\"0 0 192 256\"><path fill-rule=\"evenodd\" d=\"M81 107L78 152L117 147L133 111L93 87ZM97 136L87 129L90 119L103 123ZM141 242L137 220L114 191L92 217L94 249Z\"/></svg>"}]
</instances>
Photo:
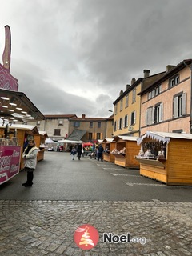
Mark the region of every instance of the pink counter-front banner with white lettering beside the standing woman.
<instances>
[{"instance_id":1,"label":"pink counter-front banner with white lettering beside the standing woman","mask_svg":"<svg viewBox=\"0 0 192 256\"><path fill-rule=\"evenodd\" d=\"M0 184L19 173L20 155L21 146L0 146Z\"/></svg>"}]
</instances>

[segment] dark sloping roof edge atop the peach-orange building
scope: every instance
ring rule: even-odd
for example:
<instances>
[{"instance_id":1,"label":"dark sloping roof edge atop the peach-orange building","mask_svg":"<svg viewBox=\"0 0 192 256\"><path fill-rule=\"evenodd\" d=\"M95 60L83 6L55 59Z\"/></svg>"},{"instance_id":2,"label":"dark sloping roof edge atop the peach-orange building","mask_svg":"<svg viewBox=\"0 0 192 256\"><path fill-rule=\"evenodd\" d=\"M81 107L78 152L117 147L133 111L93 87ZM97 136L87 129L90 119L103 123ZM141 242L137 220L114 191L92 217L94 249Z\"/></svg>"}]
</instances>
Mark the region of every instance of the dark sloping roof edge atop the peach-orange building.
<instances>
[{"instance_id":1,"label":"dark sloping roof edge atop the peach-orange building","mask_svg":"<svg viewBox=\"0 0 192 256\"><path fill-rule=\"evenodd\" d=\"M175 66L173 69L169 70L168 72L165 72L161 78L156 80L155 82L149 84L146 87L142 88L142 91L138 93L138 95L146 94L147 91L153 89L155 86L158 86L162 82L164 82L166 79L171 78L174 74L177 74L178 71L184 69L186 66L189 66L192 63L192 59L185 59L182 62L180 62L177 66Z\"/></svg>"}]
</instances>

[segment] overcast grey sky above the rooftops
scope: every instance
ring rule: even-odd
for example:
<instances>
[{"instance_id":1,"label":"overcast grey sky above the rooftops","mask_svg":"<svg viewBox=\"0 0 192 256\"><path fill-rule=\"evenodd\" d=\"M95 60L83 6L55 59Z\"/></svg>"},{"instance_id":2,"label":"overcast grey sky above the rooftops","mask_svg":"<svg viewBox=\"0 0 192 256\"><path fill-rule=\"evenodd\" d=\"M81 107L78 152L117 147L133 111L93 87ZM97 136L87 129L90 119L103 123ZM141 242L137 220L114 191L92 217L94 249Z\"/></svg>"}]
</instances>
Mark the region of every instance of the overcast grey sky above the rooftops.
<instances>
[{"instance_id":1,"label":"overcast grey sky above the rooftops","mask_svg":"<svg viewBox=\"0 0 192 256\"><path fill-rule=\"evenodd\" d=\"M132 78L192 58L191 0L6 0L10 74L42 114L108 117Z\"/></svg>"}]
</instances>

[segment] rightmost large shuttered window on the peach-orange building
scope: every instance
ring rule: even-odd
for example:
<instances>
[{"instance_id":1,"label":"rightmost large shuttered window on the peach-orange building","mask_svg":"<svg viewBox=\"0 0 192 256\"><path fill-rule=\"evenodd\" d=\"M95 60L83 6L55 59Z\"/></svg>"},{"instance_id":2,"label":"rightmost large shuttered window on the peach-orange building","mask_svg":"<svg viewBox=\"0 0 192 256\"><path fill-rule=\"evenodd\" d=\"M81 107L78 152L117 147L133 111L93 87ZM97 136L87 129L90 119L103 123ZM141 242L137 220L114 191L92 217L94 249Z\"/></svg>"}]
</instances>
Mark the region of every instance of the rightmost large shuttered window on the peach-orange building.
<instances>
[{"instance_id":1,"label":"rightmost large shuttered window on the peach-orange building","mask_svg":"<svg viewBox=\"0 0 192 256\"><path fill-rule=\"evenodd\" d=\"M174 118L182 117L186 114L186 94L174 96Z\"/></svg>"}]
</instances>

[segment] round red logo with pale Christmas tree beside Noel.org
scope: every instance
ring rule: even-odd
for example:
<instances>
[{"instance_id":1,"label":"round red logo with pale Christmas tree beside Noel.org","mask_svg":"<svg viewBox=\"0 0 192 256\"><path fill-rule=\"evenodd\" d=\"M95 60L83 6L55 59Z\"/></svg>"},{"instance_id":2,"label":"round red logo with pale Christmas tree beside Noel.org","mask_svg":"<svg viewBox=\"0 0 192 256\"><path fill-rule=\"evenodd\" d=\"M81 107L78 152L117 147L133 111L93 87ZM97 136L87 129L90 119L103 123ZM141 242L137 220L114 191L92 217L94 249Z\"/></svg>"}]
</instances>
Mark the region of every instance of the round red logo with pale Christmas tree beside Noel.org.
<instances>
[{"instance_id":1,"label":"round red logo with pale Christmas tree beside Noel.org","mask_svg":"<svg viewBox=\"0 0 192 256\"><path fill-rule=\"evenodd\" d=\"M79 226L74 232L74 242L82 250L90 250L98 243L98 230L89 224Z\"/></svg>"}]
</instances>

